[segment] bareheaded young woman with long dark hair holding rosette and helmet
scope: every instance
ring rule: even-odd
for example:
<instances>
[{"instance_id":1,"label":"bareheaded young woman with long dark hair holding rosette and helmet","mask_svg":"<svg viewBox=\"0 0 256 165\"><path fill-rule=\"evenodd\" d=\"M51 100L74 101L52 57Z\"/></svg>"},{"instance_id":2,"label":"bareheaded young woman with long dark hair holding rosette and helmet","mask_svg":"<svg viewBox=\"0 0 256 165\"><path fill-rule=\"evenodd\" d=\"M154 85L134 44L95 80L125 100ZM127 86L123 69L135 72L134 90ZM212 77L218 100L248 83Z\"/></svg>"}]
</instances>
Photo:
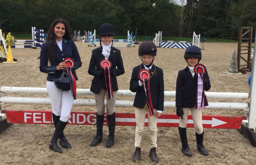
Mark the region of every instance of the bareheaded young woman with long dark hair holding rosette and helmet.
<instances>
[{"instance_id":1,"label":"bareheaded young woman with long dark hair holding rosette and helmet","mask_svg":"<svg viewBox=\"0 0 256 165\"><path fill-rule=\"evenodd\" d=\"M48 65L50 63L50 65ZM52 118L55 126L49 149L62 153L59 144L66 149L71 148L63 130L69 120L73 102L76 97L75 70L81 67L81 59L70 30L64 19L56 19L48 29L47 42L43 43L40 52L40 71L47 73L46 88L52 105ZM68 77L69 83L62 78ZM58 80L58 82L54 82ZM65 81L66 82L66 81Z\"/></svg>"}]
</instances>

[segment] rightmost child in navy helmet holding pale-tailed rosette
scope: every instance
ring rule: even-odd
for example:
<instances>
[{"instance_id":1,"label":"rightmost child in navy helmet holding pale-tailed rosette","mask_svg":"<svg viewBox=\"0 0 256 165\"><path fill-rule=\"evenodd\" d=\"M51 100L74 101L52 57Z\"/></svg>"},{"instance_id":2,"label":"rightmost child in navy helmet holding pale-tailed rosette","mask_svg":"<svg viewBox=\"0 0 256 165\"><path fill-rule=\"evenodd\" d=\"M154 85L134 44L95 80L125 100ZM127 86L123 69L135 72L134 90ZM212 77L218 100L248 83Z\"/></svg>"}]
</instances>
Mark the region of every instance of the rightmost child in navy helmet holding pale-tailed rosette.
<instances>
[{"instance_id":1,"label":"rightmost child in navy helmet holding pale-tailed rosette","mask_svg":"<svg viewBox=\"0 0 256 165\"><path fill-rule=\"evenodd\" d=\"M178 131L182 143L181 151L186 156L192 156L187 143L186 131L187 116L190 110L196 131L197 150L207 156L209 153L203 146L202 110L208 105L204 91L210 90L210 79L206 67L199 64L202 58L199 47L189 46L184 58L188 66L178 72L176 81L176 114L180 116Z\"/></svg>"}]
</instances>

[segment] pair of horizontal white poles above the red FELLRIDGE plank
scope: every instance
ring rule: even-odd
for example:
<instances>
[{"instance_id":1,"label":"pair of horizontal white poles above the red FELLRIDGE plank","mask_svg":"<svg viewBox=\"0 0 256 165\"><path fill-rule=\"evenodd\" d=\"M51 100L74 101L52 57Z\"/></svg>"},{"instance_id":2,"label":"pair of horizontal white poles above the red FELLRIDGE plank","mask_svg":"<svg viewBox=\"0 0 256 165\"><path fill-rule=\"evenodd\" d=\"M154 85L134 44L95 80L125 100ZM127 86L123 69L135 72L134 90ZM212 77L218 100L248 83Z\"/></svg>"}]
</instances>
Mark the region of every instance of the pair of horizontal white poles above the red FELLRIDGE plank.
<instances>
[{"instance_id":1,"label":"pair of horizontal white poles above the red FELLRIDGE plank","mask_svg":"<svg viewBox=\"0 0 256 165\"><path fill-rule=\"evenodd\" d=\"M33 87L0 87L0 103L2 104L46 104L50 105L49 98L34 97L8 97L6 94L47 94L46 88ZM223 92L206 92L208 99L248 99L248 93L223 93ZM77 96L94 96L89 89L77 89ZM117 96L134 97L135 93L130 90L118 90ZM164 91L165 98L175 98L175 91ZM106 101L105 101L106 104ZM95 100L76 99L74 105L95 106ZM133 101L117 100L116 107L133 107ZM175 108L175 102L164 102L164 108ZM234 102L209 102L206 109L238 109L247 110L248 103Z\"/></svg>"}]
</instances>

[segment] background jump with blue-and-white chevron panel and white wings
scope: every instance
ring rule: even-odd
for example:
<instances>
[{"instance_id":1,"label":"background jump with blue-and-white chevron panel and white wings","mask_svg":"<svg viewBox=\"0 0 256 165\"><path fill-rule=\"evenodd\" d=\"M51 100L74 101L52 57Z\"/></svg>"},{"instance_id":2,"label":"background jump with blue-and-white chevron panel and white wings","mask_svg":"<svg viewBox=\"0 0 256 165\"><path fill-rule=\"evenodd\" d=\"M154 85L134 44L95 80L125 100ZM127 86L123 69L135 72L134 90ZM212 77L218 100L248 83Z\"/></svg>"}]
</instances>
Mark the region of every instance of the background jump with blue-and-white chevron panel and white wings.
<instances>
[{"instance_id":1,"label":"background jump with blue-and-white chevron panel and white wings","mask_svg":"<svg viewBox=\"0 0 256 165\"><path fill-rule=\"evenodd\" d=\"M180 48L180 49L187 49L187 47L191 45L195 45L199 47L200 44L200 34L196 35L193 33L193 41L162 41L162 31L156 33L156 37L154 38L153 42L156 44L157 47L161 48Z\"/></svg>"}]
</instances>

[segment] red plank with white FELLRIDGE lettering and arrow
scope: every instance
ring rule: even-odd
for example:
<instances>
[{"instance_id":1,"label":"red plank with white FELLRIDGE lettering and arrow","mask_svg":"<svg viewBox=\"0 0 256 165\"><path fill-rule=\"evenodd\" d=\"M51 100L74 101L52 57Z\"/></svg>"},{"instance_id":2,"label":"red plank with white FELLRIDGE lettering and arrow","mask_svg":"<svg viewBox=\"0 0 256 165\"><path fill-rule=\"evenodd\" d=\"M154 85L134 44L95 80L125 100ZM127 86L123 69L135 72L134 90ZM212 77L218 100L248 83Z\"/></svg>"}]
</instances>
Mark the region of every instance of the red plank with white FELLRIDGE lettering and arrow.
<instances>
[{"instance_id":1,"label":"red plank with white FELLRIDGE lettering and arrow","mask_svg":"<svg viewBox=\"0 0 256 165\"><path fill-rule=\"evenodd\" d=\"M3 111L2 111L3 112ZM53 124L52 111L45 110L5 110L8 123L20 124ZM239 129L244 116L218 116L203 115L202 122L204 128L222 128L222 129ZM104 124L108 124L106 113ZM96 125L96 112L71 112L68 124L75 125ZM158 118L158 127L178 127L179 117L176 114L162 114ZM136 126L134 113L116 113L116 125ZM148 126L148 116L146 115L145 126ZM193 128L192 116L188 116L188 128Z\"/></svg>"}]
</instances>

